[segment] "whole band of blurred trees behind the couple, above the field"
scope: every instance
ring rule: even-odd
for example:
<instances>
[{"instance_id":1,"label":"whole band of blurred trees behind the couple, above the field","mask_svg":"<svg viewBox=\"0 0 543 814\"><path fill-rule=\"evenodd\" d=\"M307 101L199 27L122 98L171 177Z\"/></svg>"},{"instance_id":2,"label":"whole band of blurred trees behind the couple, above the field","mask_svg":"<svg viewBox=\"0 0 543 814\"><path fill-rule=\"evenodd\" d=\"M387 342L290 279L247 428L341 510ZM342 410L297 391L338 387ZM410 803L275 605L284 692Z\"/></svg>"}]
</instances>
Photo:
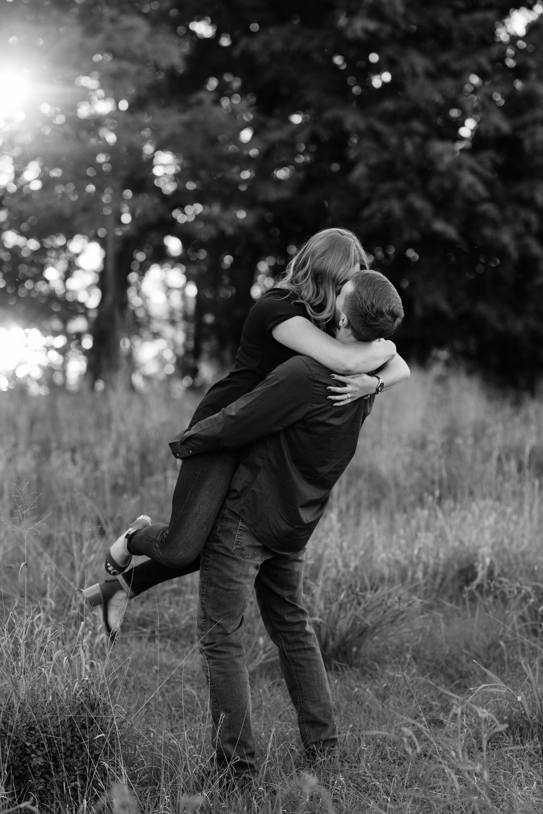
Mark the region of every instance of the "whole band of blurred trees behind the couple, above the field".
<instances>
[{"instance_id":1,"label":"whole band of blurred trees behind the couple, above the field","mask_svg":"<svg viewBox=\"0 0 543 814\"><path fill-rule=\"evenodd\" d=\"M401 291L406 356L441 349L532 382L542 12L511 19L501 0L7 5L5 49L42 84L0 129L0 304L76 342L90 333L98 378L156 330L142 279L168 264L169 339L195 375L206 357L227 360L252 295L300 243L344 225ZM103 249L99 274L85 272L86 240Z\"/></svg>"}]
</instances>

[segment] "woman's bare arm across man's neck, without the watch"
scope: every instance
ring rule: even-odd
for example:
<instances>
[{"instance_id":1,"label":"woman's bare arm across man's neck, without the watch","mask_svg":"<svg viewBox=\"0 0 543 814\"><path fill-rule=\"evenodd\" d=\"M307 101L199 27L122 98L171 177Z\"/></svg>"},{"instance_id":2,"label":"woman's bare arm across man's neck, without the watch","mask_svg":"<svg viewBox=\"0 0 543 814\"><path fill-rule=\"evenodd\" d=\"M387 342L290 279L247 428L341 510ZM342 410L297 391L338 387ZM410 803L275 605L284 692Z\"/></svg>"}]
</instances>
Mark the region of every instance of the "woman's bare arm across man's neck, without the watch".
<instances>
[{"instance_id":1,"label":"woman's bare arm across man's neck, without the watch","mask_svg":"<svg viewBox=\"0 0 543 814\"><path fill-rule=\"evenodd\" d=\"M396 353L396 345L390 339L379 339L377 342L338 342L305 317L291 317L281 322L272 329L272 335L287 348L344 374L378 370Z\"/></svg>"}]
</instances>

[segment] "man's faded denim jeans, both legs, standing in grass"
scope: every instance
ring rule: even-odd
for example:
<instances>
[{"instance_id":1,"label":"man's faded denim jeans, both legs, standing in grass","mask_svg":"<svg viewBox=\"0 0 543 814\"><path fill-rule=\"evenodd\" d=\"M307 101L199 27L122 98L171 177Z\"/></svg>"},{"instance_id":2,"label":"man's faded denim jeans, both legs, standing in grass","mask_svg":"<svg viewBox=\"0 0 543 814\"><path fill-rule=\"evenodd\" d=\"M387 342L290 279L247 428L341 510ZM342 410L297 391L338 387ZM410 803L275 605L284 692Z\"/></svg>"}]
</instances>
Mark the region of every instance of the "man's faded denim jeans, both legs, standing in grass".
<instances>
[{"instance_id":1,"label":"man's faded denim jeans, both legs, standing in grass","mask_svg":"<svg viewBox=\"0 0 543 814\"><path fill-rule=\"evenodd\" d=\"M304 550L275 554L237 514L222 509L201 554L198 635L209 681L217 764L255 773L251 694L243 615L253 586L282 674L296 707L302 743L326 753L337 743L331 694L317 637L301 606Z\"/></svg>"}]
</instances>

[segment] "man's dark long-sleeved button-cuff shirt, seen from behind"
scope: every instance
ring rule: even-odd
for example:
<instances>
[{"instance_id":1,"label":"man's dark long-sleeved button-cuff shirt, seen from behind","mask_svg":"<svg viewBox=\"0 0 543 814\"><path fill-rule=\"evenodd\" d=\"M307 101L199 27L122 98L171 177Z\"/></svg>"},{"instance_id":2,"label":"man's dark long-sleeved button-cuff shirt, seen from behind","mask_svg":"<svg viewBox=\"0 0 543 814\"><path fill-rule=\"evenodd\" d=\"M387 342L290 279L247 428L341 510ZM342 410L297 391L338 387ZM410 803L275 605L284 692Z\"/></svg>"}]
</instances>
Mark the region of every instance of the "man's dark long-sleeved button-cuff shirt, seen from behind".
<instances>
[{"instance_id":1,"label":"man's dark long-sleeved button-cuff shirt, seen from behind","mask_svg":"<svg viewBox=\"0 0 543 814\"><path fill-rule=\"evenodd\" d=\"M330 373L309 357L293 357L252 392L170 441L176 457L245 448L225 505L279 554L304 548L374 402L371 396L332 407Z\"/></svg>"}]
</instances>

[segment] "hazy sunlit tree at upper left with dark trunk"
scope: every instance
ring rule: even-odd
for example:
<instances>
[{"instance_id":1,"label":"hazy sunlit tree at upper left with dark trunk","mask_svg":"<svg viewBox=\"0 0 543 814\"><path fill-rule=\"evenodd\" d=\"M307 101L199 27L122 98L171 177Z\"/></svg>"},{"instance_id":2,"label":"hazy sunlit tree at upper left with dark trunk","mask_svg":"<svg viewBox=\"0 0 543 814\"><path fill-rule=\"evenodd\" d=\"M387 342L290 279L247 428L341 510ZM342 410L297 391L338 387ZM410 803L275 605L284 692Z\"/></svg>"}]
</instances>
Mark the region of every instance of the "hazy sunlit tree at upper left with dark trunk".
<instances>
[{"instance_id":1,"label":"hazy sunlit tree at upper left with dark trunk","mask_svg":"<svg viewBox=\"0 0 543 814\"><path fill-rule=\"evenodd\" d=\"M49 9L46 20L34 18L32 23L15 20L21 50L37 33L49 46L42 69L58 83L59 93L56 98L51 94L52 103L42 103L39 110L34 107L33 116L8 131L15 177L8 190L11 194L3 199L5 226L33 234L29 255L33 265L11 264L12 282L6 293L8 304L15 304L18 278L24 313L34 319L39 313L47 322L47 312L40 306L48 306L65 328L74 311L85 311L85 301L79 303L69 292L65 294L63 285L52 287L47 264L60 265L69 278L77 258L64 248L66 237L84 234L99 239L104 253L101 298L89 314L91 320L94 317L90 367L96 378L119 367L120 339L129 333L126 275L132 254L149 225L165 217L163 196L156 194L159 190L152 184L155 151L147 122L154 115L155 126L167 129L175 113L164 116L152 104L145 111L131 110L128 98L134 96L136 86L138 93L152 94L162 68L181 71L182 51L171 33L151 27L141 15L104 11L90 33L90 27L81 26L79 15L73 14L77 7L70 11L65 15ZM12 12L17 17L20 8ZM51 48L59 36L61 58L59 50ZM114 64L108 48L116 51ZM147 61L147 69L141 69L141 59ZM100 72L94 69L99 63L103 63ZM137 213L137 226L130 210ZM28 242L23 248L27 247Z\"/></svg>"}]
</instances>

